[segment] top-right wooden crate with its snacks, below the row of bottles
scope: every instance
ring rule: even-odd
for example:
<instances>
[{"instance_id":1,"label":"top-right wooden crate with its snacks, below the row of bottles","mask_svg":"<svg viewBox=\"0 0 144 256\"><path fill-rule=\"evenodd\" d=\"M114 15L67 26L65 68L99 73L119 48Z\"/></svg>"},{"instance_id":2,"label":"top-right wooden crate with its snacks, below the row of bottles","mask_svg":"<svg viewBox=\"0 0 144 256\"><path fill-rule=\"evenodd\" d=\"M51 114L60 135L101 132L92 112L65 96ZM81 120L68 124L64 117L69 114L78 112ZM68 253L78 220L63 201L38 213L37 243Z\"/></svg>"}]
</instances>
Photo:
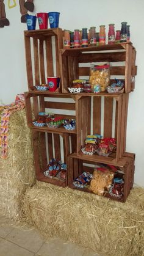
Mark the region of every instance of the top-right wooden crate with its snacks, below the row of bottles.
<instances>
[{"instance_id":1,"label":"top-right wooden crate with its snacks, below the row of bottles","mask_svg":"<svg viewBox=\"0 0 144 256\"><path fill-rule=\"evenodd\" d=\"M63 93L74 89L77 93L113 94L134 90L136 51L131 43L61 49L60 54Z\"/></svg>"}]
</instances>

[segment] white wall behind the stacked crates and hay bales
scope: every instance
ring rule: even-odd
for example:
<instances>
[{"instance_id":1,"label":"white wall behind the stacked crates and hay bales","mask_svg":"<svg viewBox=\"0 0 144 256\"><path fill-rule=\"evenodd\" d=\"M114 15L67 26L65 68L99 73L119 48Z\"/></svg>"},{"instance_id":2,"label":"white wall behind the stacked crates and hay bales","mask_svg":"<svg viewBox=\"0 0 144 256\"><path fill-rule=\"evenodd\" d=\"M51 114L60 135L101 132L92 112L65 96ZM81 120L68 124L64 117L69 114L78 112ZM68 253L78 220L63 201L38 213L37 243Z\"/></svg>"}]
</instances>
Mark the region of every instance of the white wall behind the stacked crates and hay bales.
<instances>
[{"instance_id":1,"label":"white wall behind the stacked crates and hay bales","mask_svg":"<svg viewBox=\"0 0 144 256\"><path fill-rule=\"evenodd\" d=\"M10 26L0 29L0 104L11 103L15 95L27 90L25 53L23 31L26 24L20 23L20 11L17 6L8 9L5 0L7 18ZM144 186L144 1L143 0L34 0L35 13L60 12L59 27L62 29L81 29L82 27L115 23L115 29L120 29L121 21L131 25L131 41L137 49L138 72L135 81L135 91L129 97L127 147L128 152L136 153L135 183ZM38 24L37 24L38 29Z\"/></svg>"}]
</instances>

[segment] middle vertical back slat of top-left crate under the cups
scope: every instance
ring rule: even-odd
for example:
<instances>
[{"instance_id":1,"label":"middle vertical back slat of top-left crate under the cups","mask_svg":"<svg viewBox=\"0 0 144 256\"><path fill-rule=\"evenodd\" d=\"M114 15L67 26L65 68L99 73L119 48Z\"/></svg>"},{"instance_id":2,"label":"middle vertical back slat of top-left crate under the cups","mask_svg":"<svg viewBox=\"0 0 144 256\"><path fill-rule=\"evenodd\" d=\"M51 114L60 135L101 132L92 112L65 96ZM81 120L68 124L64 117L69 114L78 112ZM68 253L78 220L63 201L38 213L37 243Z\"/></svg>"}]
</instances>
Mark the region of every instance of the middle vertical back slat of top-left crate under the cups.
<instances>
[{"instance_id":1,"label":"middle vertical back slat of top-left crate under the cups","mask_svg":"<svg viewBox=\"0 0 144 256\"><path fill-rule=\"evenodd\" d=\"M44 41L40 40L40 48L39 48L39 56L40 56L40 78L41 78L41 84L47 84L47 81L45 79L45 60L44 60Z\"/></svg>"}]
</instances>

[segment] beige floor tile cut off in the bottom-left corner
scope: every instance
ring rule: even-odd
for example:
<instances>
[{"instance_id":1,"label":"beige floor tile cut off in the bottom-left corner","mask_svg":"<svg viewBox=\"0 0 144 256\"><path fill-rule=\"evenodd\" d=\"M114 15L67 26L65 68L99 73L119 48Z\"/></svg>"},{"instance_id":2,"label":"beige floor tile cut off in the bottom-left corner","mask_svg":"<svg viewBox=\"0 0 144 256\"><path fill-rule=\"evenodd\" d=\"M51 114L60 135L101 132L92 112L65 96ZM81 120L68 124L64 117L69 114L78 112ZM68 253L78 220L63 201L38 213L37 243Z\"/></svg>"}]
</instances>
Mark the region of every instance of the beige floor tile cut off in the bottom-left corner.
<instances>
[{"instance_id":1,"label":"beige floor tile cut off in the bottom-left corner","mask_svg":"<svg viewBox=\"0 0 144 256\"><path fill-rule=\"evenodd\" d=\"M0 240L0 255L1 256L34 256L33 252L29 252L16 244L10 243L4 239Z\"/></svg>"}]
</instances>

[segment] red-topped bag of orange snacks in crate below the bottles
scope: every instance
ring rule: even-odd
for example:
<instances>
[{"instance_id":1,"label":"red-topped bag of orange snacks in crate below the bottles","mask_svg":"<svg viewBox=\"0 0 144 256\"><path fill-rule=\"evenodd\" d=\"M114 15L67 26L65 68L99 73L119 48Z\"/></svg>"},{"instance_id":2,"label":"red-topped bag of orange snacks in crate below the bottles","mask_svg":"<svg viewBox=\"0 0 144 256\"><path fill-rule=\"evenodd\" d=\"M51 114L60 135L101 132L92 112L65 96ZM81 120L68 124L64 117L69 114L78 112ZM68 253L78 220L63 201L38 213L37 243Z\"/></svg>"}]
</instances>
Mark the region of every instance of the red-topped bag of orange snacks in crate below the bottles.
<instances>
[{"instance_id":1,"label":"red-topped bag of orange snacks in crate below the bottles","mask_svg":"<svg viewBox=\"0 0 144 256\"><path fill-rule=\"evenodd\" d=\"M104 65L94 65L90 67L90 84L92 89L95 89L99 85L98 92L104 92L106 87L109 86L110 81L110 65L109 63Z\"/></svg>"}]
</instances>

